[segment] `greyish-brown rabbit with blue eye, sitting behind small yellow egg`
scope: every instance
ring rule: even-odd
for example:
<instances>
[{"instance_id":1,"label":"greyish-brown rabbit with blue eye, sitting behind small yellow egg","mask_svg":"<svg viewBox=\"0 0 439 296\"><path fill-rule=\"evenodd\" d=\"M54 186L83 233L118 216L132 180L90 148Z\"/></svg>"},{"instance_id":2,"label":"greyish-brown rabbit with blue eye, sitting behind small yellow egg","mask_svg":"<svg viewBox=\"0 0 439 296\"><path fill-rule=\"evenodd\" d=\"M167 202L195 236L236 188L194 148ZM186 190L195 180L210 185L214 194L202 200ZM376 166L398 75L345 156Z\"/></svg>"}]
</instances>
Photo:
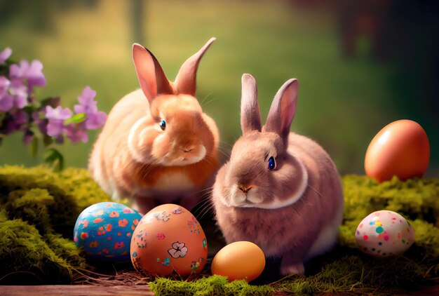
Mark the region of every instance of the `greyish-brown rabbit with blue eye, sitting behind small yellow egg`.
<instances>
[{"instance_id":1,"label":"greyish-brown rabbit with blue eye, sitting behind small yellow egg","mask_svg":"<svg viewBox=\"0 0 439 296\"><path fill-rule=\"evenodd\" d=\"M302 274L304 261L335 244L343 214L342 183L330 156L308 137L290 133L296 79L273 99L262 127L257 87L242 78L241 128L212 193L227 243L252 241L282 258L281 274Z\"/></svg>"}]
</instances>

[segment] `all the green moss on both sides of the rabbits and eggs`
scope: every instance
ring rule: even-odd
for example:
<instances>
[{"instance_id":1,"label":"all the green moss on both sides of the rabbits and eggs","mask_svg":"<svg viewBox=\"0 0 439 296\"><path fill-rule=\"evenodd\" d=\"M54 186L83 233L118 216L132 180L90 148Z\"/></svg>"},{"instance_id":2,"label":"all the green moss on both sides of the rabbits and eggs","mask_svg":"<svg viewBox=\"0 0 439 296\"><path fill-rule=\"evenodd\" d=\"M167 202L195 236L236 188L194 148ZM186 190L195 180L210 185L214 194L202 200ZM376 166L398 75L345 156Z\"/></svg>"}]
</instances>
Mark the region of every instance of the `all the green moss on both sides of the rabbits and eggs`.
<instances>
[{"instance_id":1,"label":"all the green moss on both sides of the rabbits and eggs","mask_svg":"<svg viewBox=\"0 0 439 296\"><path fill-rule=\"evenodd\" d=\"M196 281L156 278L158 295L267 295L272 292L398 293L439 278L439 179L377 184L363 176L343 178L344 222L335 250L309 262L308 274L267 285L229 283L221 276ZM72 231L87 206L109 197L83 169L53 173L46 168L0 167L0 279L27 272L39 283L69 283L86 267ZM415 243L400 257L374 259L356 248L355 231L375 210L394 210L408 218ZM22 274L19 274L22 276ZM20 277L21 278L21 277ZM0 280L1 283L1 280Z\"/></svg>"}]
</instances>

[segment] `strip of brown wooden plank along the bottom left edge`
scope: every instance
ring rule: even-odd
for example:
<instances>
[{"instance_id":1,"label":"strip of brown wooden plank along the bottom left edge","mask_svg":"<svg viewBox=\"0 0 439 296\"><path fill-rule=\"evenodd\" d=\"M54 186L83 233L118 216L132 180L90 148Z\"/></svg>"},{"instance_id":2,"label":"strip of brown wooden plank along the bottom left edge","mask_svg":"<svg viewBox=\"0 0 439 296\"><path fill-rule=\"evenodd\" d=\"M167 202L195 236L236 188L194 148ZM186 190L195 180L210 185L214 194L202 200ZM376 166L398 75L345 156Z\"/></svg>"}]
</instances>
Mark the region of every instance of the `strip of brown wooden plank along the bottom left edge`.
<instances>
[{"instance_id":1,"label":"strip of brown wooden plank along the bottom left edge","mask_svg":"<svg viewBox=\"0 0 439 296\"><path fill-rule=\"evenodd\" d=\"M0 285L0 295L153 296L148 285Z\"/></svg>"}]
</instances>

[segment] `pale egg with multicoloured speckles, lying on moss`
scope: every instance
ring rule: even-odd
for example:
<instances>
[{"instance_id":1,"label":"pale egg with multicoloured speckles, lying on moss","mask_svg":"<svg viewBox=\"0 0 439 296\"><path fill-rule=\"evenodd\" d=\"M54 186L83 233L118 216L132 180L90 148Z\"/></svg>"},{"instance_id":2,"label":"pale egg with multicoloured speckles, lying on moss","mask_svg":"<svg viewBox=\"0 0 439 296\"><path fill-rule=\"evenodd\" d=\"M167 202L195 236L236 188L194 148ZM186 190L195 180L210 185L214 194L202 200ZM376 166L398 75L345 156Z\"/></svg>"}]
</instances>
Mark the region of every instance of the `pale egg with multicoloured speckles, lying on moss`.
<instances>
[{"instance_id":1,"label":"pale egg with multicoloured speckles, lying on moss","mask_svg":"<svg viewBox=\"0 0 439 296\"><path fill-rule=\"evenodd\" d=\"M414 231L403 216L391 210L379 210L360 222L355 238L364 253L389 257L401 255L410 248Z\"/></svg>"}]
</instances>

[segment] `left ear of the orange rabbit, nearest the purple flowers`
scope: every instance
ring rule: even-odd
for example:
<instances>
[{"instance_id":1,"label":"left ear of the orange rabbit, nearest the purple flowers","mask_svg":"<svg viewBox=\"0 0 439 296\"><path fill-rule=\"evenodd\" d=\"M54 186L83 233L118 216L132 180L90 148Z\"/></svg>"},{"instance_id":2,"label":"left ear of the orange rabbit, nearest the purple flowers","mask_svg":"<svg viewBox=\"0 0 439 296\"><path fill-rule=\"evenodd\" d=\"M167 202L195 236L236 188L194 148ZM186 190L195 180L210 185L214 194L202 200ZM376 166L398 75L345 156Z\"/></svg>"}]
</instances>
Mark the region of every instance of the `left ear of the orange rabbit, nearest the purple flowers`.
<instances>
[{"instance_id":1,"label":"left ear of the orange rabbit, nearest the purple flowers","mask_svg":"<svg viewBox=\"0 0 439 296\"><path fill-rule=\"evenodd\" d=\"M133 44L133 61L140 88L149 102L161 93L171 94L173 88L154 55L140 44Z\"/></svg>"}]
</instances>

